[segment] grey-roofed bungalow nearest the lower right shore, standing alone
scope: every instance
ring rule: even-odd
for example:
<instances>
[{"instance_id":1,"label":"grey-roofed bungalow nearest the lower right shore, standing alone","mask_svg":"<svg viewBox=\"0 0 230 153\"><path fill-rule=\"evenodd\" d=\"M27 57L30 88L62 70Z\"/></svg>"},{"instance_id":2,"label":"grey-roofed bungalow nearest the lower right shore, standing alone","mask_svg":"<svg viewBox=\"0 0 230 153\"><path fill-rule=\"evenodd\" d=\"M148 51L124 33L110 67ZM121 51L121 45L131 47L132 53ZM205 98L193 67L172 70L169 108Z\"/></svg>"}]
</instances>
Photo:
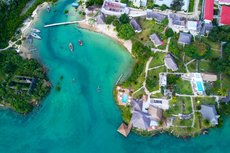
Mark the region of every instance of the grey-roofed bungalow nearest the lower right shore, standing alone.
<instances>
[{"instance_id":1,"label":"grey-roofed bungalow nearest the lower right shore, standing alone","mask_svg":"<svg viewBox=\"0 0 230 153\"><path fill-rule=\"evenodd\" d=\"M201 105L200 113L202 117L209 120L212 126L218 124L218 118L220 117L214 105Z\"/></svg>"}]
</instances>

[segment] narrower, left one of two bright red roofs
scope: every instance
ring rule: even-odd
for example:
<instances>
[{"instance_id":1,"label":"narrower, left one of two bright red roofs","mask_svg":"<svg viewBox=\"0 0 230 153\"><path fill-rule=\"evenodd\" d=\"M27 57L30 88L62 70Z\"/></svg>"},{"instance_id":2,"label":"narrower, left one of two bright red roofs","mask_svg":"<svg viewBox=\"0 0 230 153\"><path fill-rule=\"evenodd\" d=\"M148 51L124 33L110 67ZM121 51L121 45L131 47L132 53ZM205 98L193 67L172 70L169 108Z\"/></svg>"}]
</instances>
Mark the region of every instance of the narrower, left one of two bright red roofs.
<instances>
[{"instance_id":1,"label":"narrower, left one of two bright red roofs","mask_svg":"<svg viewBox=\"0 0 230 153\"><path fill-rule=\"evenodd\" d=\"M214 0L205 0L204 19L213 20L213 14L214 14Z\"/></svg>"}]
</instances>

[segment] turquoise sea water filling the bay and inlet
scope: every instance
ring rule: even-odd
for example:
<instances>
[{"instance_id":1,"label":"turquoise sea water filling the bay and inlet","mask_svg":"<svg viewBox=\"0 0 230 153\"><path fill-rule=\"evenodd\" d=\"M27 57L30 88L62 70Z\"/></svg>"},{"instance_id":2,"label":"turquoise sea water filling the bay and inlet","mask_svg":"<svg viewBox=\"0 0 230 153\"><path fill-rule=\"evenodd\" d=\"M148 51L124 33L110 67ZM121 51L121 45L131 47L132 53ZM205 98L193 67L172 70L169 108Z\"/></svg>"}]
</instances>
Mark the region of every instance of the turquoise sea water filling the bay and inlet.
<instances>
[{"instance_id":1,"label":"turquoise sea water filling the bay and inlet","mask_svg":"<svg viewBox=\"0 0 230 153\"><path fill-rule=\"evenodd\" d=\"M49 69L54 86L64 76L61 92L53 89L28 116L0 110L0 153L229 152L230 119L209 135L187 140L166 134L148 138L118 134L121 115L112 90L117 78L129 73L131 56L111 39L73 25L42 28L66 21L63 12L71 2L60 0L56 12L43 12L35 25L43 38L35 41L39 49L35 55ZM83 47L77 45L78 39L84 41ZM74 53L68 49L69 41Z\"/></svg>"}]
</instances>

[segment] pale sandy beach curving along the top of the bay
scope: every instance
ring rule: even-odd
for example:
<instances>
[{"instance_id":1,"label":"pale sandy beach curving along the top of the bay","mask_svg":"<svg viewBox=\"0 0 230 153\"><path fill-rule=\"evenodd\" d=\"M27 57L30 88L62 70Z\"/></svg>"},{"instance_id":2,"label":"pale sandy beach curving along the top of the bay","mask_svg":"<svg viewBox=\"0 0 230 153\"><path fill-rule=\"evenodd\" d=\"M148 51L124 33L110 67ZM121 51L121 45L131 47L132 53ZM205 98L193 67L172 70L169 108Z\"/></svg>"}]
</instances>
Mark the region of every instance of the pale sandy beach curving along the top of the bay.
<instances>
[{"instance_id":1,"label":"pale sandy beach curving along the top of the bay","mask_svg":"<svg viewBox=\"0 0 230 153\"><path fill-rule=\"evenodd\" d=\"M117 32L114 30L115 27L113 25L90 24L87 20L83 20L78 23L78 27L93 32L101 33L112 38L113 40L124 46L126 50L132 55L132 41L118 38Z\"/></svg>"}]
</instances>

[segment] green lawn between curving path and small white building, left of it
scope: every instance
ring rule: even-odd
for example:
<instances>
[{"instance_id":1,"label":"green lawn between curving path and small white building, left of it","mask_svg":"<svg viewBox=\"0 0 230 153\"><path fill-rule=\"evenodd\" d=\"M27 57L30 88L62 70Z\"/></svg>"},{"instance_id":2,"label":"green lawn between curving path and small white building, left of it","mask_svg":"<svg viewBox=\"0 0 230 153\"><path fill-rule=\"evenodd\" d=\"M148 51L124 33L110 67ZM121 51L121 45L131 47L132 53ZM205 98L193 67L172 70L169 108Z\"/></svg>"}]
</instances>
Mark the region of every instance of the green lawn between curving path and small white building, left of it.
<instances>
[{"instance_id":1,"label":"green lawn between curving path and small white building, left of it","mask_svg":"<svg viewBox=\"0 0 230 153\"><path fill-rule=\"evenodd\" d=\"M165 67L160 67L158 69L153 69L148 71L148 77L146 80L146 87L151 91L159 90L159 73L165 72Z\"/></svg>"}]
</instances>

